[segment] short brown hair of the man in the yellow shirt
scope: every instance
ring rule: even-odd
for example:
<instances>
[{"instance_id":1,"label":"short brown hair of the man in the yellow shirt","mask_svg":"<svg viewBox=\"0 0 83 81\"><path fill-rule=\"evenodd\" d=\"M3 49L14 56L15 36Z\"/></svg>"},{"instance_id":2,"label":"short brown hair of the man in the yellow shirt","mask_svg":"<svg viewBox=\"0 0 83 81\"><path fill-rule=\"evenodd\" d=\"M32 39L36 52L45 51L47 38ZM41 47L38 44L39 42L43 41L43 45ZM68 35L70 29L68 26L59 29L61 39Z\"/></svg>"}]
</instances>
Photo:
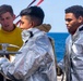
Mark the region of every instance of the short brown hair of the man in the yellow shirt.
<instances>
[{"instance_id":1,"label":"short brown hair of the man in the yellow shirt","mask_svg":"<svg viewBox=\"0 0 83 81\"><path fill-rule=\"evenodd\" d=\"M11 5L8 4L2 4L0 5L0 15L2 15L3 13L10 12L11 15L13 15L13 9Z\"/></svg>"}]
</instances>

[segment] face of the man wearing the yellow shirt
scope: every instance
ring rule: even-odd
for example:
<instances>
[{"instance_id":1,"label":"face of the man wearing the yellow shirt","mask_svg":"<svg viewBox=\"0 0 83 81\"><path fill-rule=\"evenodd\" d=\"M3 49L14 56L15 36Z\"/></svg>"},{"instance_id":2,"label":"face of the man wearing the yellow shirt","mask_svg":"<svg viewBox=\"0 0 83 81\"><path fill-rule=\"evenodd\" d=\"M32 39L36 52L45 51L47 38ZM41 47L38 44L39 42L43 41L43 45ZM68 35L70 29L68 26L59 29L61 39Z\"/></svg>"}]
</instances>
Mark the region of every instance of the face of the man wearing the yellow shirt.
<instances>
[{"instance_id":1,"label":"face of the man wearing the yellow shirt","mask_svg":"<svg viewBox=\"0 0 83 81\"><path fill-rule=\"evenodd\" d=\"M15 15L11 15L9 12L3 13L0 16L0 24L2 26L2 29L7 31L11 31L14 28L13 26L14 18L15 18Z\"/></svg>"}]
</instances>

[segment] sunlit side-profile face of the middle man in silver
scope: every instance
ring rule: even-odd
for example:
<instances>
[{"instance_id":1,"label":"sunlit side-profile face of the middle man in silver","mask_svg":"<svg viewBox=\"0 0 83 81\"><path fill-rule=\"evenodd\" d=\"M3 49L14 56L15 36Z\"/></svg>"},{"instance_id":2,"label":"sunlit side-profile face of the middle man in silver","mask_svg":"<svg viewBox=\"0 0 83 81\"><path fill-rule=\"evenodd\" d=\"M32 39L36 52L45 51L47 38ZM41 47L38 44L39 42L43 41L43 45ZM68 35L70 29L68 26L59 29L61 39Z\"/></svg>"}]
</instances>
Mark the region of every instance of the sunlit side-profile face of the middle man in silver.
<instances>
[{"instance_id":1,"label":"sunlit side-profile face of the middle man in silver","mask_svg":"<svg viewBox=\"0 0 83 81\"><path fill-rule=\"evenodd\" d=\"M32 21L29 16L21 16L21 24L20 24L20 28L21 29L29 29L32 28Z\"/></svg>"}]
</instances>

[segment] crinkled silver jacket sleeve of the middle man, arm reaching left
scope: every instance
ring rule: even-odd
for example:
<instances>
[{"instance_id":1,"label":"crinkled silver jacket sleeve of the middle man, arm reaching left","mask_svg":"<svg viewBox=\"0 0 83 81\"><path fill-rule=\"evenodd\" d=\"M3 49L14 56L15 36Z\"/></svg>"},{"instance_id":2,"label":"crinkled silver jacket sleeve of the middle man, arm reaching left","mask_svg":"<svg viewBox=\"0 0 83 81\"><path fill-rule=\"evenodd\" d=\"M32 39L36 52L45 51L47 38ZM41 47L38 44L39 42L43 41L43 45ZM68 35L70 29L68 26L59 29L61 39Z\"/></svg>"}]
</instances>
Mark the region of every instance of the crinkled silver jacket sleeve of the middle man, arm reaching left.
<instances>
[{"instance_id":1,"label":"crinkled silver jacket sleeve of the middle man, arm reaching left","mask_svg":"<svg viewBox=\"0 0 83 81\"><path fill-rule=\"evenodd\" d=\"M2 72L11 79L22 80L32 76L40 66L52 62L51 56L47 52L48 44L37 40L37 42L26 45L22 49L22 54L17 54L13 63L2 63ZM45 46L46 45L46 46Z\"/></svg>"}]
</instances>

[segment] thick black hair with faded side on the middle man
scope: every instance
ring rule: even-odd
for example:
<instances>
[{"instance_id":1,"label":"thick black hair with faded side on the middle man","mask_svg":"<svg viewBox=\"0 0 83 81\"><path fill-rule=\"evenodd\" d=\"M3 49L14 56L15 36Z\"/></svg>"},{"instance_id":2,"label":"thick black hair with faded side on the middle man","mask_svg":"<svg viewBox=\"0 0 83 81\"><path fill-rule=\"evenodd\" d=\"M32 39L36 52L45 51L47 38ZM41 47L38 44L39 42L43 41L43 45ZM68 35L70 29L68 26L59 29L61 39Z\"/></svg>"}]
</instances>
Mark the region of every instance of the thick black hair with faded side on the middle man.
<instances>
[{"instance_id":1,"label":"thick black hair with faded side on the middle man","mask_svg":"<svg viewBox=\"0 0 83 81\"><path fill-rule=\"evenodd\" d=\"M44 21L45 14L40 6L29 6L21 11L20 16L31 16L33 21L35 21L38 25L40 25Z\"/></svg>"}]
</instances>

